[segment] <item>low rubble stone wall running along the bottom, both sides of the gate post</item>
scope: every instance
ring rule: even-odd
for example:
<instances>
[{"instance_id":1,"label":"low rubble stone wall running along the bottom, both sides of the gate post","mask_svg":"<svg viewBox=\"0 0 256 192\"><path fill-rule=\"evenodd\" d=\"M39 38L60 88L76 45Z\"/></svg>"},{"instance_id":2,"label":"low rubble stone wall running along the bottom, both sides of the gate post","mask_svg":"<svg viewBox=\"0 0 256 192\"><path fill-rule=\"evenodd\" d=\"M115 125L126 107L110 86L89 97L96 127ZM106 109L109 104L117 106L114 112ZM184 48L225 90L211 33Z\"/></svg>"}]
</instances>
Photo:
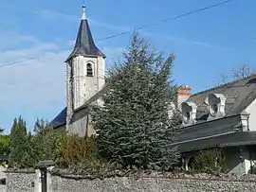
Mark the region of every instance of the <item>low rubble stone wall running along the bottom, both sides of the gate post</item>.
<instances>
[{"instance_id":1,"label":"low rubble stone wall running along the bottom, both sides of the gate post","mask_svg":"<svg viewBox=\"0 0 256 192\"><path fill-rule=\"evenodd\" d=\"M34 174L9 173L7 176L8 191L32 191L30 183ZM116 177L103 180L71 179L51 176L54 192L161 192L161 191L256 191L256 177L249 176L242 180L217 178L174 178L174 177Z\"/></svg>"}]
</instances>

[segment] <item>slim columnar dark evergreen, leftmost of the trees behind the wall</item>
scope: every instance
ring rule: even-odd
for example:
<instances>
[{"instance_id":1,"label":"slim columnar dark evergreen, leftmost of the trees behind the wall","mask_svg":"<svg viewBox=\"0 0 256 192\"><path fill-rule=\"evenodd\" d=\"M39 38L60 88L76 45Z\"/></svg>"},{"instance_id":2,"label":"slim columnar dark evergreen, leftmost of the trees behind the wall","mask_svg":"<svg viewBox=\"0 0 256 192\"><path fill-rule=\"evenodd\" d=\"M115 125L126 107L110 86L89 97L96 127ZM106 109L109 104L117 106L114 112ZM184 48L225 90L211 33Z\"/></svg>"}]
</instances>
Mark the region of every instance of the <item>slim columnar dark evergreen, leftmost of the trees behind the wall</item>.
<instances>
[{"instance_id":1,"label":"slim columnar dark evergreen, leftmost of the trees behind the wall","mask_svg":"<svg viewBox=\"0 0 256 192\"><path fill-rule=\"evenodd\" d=\"M27 152L27 126L26 121L20 116L13 121L10 130L10 166L22 166Z\"/></svg>"}]
</instances>

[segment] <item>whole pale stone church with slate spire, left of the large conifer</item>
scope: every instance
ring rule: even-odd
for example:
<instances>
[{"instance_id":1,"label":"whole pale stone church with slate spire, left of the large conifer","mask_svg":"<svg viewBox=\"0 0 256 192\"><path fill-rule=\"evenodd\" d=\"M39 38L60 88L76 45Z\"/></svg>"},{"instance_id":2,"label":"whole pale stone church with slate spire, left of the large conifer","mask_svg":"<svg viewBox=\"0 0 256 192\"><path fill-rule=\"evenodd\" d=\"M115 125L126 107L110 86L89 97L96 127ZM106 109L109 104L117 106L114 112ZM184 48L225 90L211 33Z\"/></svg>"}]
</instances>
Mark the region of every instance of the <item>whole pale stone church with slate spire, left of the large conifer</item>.
<instances>
[{"instance_id":1,"label":"whole pale stone church with slate spire, left of the large conifer","mask_svg":"<svg viewBox=\"0 0 256 192\"><path fill-rule=\"evenodd\" d=\"M105 58L94 43L85 7L82 7L76 44L65 61L66 107L50 122L54 129L80 136L95 133L90 126L86 107L90 103L102 103L101 93L105 90Z\"/></svg>"}]
</instances>

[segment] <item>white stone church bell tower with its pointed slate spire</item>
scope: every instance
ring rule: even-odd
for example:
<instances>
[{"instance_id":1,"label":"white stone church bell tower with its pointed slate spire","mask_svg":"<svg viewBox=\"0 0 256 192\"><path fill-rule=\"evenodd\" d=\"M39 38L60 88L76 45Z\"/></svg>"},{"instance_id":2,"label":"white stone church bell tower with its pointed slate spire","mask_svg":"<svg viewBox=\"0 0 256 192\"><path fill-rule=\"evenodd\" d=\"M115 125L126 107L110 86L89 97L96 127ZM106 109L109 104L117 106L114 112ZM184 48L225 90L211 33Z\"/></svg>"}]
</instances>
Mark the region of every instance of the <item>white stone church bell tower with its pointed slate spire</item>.
<instances>
[{"instance_id":1,"label":"white stone church bell tower with its pointed slate spire","mask_svg":"<svg viewBox=\"0 0 256 192\"><path fill-rule=\"evenodd\" d=\"M104 85L105 56L96 46L82 6L82 20L75 47L66 59L66 123Z\"/></svg>"}]
</instances>

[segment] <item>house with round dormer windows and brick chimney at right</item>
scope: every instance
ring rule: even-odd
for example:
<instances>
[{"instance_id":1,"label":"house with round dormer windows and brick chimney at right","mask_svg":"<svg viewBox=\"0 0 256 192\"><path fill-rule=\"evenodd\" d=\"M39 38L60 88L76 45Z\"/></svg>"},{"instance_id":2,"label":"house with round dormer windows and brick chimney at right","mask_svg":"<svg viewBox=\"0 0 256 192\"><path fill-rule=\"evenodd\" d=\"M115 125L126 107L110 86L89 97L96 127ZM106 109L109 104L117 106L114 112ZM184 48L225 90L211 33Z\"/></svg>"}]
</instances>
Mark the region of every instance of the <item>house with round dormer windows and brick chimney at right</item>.
<instances>
[{"instance_id":1,"label":"house with round dormer windows and brick chimney at right","mask_svg":"<svg viewBox=\"0 0 256 192\"><path fill-rule=\"evenodd\" d=\"M183 116L174 146L189 168L199 151L222 148L229 173L252 173L256 160L256 75L191 94L181 87L177 102Z\"/></svg>"}]
</instances>

